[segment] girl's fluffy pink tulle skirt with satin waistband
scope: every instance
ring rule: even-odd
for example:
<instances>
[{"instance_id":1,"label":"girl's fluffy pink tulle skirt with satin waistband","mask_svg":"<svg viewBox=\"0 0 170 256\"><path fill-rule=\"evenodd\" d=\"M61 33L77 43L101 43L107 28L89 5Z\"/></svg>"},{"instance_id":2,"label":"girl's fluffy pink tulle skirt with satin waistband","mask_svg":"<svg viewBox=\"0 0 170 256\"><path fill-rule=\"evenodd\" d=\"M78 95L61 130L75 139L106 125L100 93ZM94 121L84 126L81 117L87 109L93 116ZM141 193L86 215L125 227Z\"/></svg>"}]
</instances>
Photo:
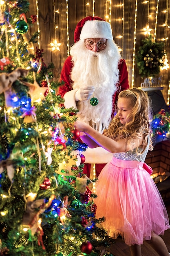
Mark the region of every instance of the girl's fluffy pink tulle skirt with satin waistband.
<instances>
[{"instance_id":1,"label":"girl's fluffy pink tulle skirt with satin waistband","mask_svg":"<svg viewBox=\"0 0 170 256\"><path fill-rule=\"evenodd\" d=\"M96 218L105 217L108 235L121 235L127 245L141 245L153 232L163 235L170 228L161 195L143 164L113 157L96 182Z\"/></svg>"}]
</instances>

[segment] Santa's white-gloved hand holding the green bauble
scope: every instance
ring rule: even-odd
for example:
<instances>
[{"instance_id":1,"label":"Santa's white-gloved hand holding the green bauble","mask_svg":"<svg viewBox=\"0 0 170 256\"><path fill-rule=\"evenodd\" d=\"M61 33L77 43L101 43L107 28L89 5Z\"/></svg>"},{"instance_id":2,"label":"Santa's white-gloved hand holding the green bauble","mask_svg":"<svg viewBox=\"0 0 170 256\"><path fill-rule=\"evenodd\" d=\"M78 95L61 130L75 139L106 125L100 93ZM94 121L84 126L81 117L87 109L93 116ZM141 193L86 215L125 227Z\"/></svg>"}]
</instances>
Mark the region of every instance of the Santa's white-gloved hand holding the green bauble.
<instances>
[{"instance_id":1,"label":"Santa's white-gloved hand holding the green bauble","mask_svg":"<svg viewBox=\"0 0 170 256\"><path fill-rule=\"evenodd\" d=\"M90 99L94 90L95 88L93 85L87 85L84 88L79 88L75 93L75 101L86 101L87 99Z\"/></svg>"}]
</instances>

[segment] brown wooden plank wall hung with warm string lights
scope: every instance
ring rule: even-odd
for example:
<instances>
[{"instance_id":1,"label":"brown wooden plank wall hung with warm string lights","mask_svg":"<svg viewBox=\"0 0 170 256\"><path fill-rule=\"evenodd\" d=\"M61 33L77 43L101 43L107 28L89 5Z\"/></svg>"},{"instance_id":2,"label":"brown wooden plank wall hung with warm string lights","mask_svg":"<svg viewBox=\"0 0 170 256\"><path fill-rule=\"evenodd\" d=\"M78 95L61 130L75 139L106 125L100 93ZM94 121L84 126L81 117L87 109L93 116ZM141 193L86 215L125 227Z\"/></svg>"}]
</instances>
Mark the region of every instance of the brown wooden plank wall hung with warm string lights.
<instances>
[{"instance_id":1,"label":"brown wooden plank wall hung with warm string lights","mask_svg":"<svg viewBox=\"0 0 170 256\"><path fill-rule=\"evenodd\" d=\"M130 86L134 80L134 86L140 86L144 79L141 79L136 61L133 65L133 52L135 42L135 54L141 40L146 38L143 28L149 24L152 29L151 35L154 38L155 27L156 42L161 42L166 36L167 56L170 64L170 28L163 27L167 20L164 12L168 4L168 25L170 25L170 0L29 0L30 7L28 16L38 14L38 23L30 27L30 34L40 29L40 40L37 45L44 50L44 61L46 64L53 62L55 65L55 80L60 78L60 72L66 59L69 47L74 43L74 29L82 18L89 15L106 18L110 16L110 24L113 30L115 43L119 45L122 57L126 60L129 74ZM122 5L124 4L124 6ZM158 4L158 13L156 13ZM93 8L94 7L94 8ZM110 9L109 9L110 7ZM54 12L58 11L58 12ZM136 13L136 17L135 17ZM157 16L157 20L156 20ZM136 19L136 39L134 40ZM55 29L55 27L58 27ZM121 38L120 36L123 36ZM61 43L60 51L51 51L50 43L57 39ZM134 72L132 68L134 67ZM132 79L134 75L134 79ZM160 72L164 99L167 100L168 85L170 80L170 68Z\"/></svg>"}]
</instances>

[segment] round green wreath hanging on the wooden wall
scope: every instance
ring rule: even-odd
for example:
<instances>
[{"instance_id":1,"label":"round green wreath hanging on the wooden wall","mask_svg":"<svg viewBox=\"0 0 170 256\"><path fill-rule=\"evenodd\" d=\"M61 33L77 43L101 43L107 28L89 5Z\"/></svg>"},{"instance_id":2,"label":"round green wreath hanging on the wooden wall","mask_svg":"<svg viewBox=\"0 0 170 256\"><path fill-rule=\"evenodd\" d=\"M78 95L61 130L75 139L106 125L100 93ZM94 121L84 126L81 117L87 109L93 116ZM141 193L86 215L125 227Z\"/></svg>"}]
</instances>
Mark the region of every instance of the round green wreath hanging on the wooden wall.
<instances>
[{"instance_id":1,"label":"round green wreath hanging on the wooden wall","mask_svg":"<svg viewBox=\"0 0 170 256\"><path fill-rule=\"evenodd\" d=\"M155 77L160 72L160 67L164 66L162 58L165 55L164 43L152 42L152 37L143 39L142 46L135 56L139 74L144 77Z\"/></svg>"}]
</instances>

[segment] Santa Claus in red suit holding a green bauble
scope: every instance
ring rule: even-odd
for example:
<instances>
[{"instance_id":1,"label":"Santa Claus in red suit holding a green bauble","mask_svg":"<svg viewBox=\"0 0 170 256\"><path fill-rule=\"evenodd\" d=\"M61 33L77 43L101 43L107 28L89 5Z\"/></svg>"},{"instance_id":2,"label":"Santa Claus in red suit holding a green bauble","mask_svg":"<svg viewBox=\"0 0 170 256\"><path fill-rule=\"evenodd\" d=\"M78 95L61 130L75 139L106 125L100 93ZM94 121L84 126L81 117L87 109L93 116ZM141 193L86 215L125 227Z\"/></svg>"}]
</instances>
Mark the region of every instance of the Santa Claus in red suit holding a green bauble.
<instances>
[{"instance_id":1,"label":"Santa Claus in red suit holding a green bauble","mask_svg":"<svg viewBox=\"0 0 170 256\"><path fill-rule=\"evenodd\" d=\"M75 28L75 44L64 62L57 92L66 108L79 110L77 117L103 133L115 112L117 96L129 88L126 62L115 44L110 23L97 16L80 20ZM103 148L88 148L84 173L90 176L95 163L98 176L112 154Z\"/></svg>"}]
</instances>

